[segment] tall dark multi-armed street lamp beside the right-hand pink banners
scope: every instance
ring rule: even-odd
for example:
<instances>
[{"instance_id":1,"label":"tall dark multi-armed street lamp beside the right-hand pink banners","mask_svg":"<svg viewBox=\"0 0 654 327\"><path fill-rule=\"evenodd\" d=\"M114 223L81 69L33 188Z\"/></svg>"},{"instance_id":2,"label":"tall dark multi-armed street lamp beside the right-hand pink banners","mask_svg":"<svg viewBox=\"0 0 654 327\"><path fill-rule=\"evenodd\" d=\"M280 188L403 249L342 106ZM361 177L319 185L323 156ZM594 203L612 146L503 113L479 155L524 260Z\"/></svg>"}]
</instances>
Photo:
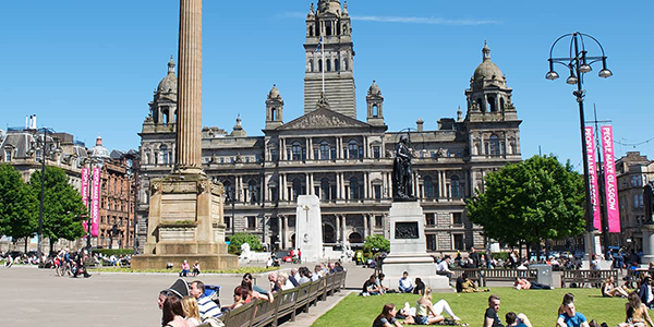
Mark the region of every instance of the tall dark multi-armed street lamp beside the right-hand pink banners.
<instances>
[{"instance_id":1,"label":"tall dark multi-armed street lamp beside the right-hand pink banners","mask_svg":"<svg viewBox=\"0 0 654 327\"><path fill-rule=\"evenodd\" d=\"M562 40L562 39L570 39L570 44L568 46L569 48L569 57L561 57L561 58L555 58L552 57L553 52L554 52L554 47L556 47L556 45ZM600 57L590 57L588 56L588 51L585 49L585 44L584 41L586 40L591 40L593 43L595 43L597 45L597 47L600 48L600 51L602 52L602 56ZM561 43L562 44L562 43ZM547 72L547 74L545 74L545 78L554 81L556 78L559 77L559 74L554 70L554 64L558 63L561 65L565 65L569 71L570 71L570 75L568 76L568 78L566 80L566 83L570 84L570 85L577 85L577 90L572 92L572 95L574 95L574 97L577 98L577 102L579 104L579 124L581 128L581 150L583 154L582 157L582 161L583 161L583 180L584 180L584 192L585 192L585 220L586 220L586 232L589 233L589 235L592 235L593 233L593 205L591 202L591 186L590 186L590 175L589 175L589 162L588 162L588 154L586 154L586 141L585 141L585 120L584 120L584 113L583 113L583 98L585 96L585 89L582 88L583 85L583 77L586 73L592 71L592 64L596 63L596 62L602 62L602 70L598 73L600 77L603 78L607 78L610 77L613 75L613 73L610 72L610 70L608 70L608 68L606 68L606 56L604 55L604 48L602 47L602 45L600 44L600 41L597 41L597 39L595 39L594 37L588 35L588 34L583 34L583 33L579 33L579 32L574 32L574 33L570 33L570 34L566 34L559 38L557 38L554 44L552 45L552 48L549 49L549 59L547 60L549 62L549 71ZM603 221L603 234L604 234L604 247L606 250L606 252L608 252L608 225L604 223ZM594 247L594 242L591 242L592 238L589 237L589 239L584 242L585 243L585 247L586 247L586 255L591 255L591 251ZM591 243L591 244L589 244ZM593 251L594 253L594 251Z\"/></svg>"}]
</instances>

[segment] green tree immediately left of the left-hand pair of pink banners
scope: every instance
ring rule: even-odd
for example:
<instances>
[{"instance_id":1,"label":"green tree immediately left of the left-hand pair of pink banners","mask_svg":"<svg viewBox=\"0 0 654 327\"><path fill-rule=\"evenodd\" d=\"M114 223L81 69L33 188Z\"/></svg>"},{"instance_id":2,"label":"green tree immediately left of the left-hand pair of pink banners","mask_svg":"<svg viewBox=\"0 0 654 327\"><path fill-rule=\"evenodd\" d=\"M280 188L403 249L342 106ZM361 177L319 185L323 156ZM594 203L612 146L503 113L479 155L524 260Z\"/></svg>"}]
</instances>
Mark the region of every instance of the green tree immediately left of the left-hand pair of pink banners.
<instances>
[{"instance_id":1,"label":"green tree immediately left of the left-hand pair of pink banners","mask_svg":"<svg viewBox=\"0 0 654 327\"><path fill-rule=\"evenodd\" d=\"M40 171L32 174L29 184L38 203L41 190ZM58 167L46 167L44 238L50 239L50 251L52 251L55 242L60 239L72 241L85 234L82 221L85 219L86 213L80 192L69 184L65 172Z\"/></svg>"}]
</instances>

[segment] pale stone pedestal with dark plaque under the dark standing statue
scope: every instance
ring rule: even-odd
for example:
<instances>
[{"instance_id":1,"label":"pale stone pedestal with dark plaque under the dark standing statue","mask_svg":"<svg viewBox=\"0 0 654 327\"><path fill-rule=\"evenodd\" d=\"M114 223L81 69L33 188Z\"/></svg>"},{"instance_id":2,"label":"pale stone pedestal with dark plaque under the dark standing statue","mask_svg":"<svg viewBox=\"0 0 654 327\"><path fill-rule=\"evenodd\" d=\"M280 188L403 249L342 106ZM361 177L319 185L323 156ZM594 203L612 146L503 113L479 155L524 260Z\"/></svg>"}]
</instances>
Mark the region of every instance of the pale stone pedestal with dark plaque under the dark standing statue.
<instances>
[{"instance_id":1,"label":"pale stone pedestal with dark plaque under the dark standing statue","mask_svg":"<svg viewBox=\"0 0 654 327\"><path fill-rule=\"evenodd\" d=\"M395 202L388 215L390 222L390 253L382 270L389 286L397 288L403 271L415 280L420 277L435 292L451 292L449 279L436 275L434 258L426 252L425 221L417 202Z\"/></svg>"}]
</instances>

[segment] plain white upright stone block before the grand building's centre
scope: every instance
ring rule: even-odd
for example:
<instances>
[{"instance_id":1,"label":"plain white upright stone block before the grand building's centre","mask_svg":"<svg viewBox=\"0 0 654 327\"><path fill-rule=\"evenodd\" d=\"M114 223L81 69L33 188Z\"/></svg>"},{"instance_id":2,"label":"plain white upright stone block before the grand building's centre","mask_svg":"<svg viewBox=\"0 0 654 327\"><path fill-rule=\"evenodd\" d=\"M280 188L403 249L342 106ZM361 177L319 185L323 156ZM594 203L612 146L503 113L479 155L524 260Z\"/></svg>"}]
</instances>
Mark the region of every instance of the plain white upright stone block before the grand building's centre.
<instances>
[{"instance_id":1,"label":"plain white upright stone block before the grand building's centre","mask_svg":"<svg viewBox=\"0 0 654 327\"><path fill-rule=\"evenodd\" d=\"M298 196L295 246L303 263L319 263L323 258L323 218L320 201L315 195Z\"/></svg>"}]
</instances>

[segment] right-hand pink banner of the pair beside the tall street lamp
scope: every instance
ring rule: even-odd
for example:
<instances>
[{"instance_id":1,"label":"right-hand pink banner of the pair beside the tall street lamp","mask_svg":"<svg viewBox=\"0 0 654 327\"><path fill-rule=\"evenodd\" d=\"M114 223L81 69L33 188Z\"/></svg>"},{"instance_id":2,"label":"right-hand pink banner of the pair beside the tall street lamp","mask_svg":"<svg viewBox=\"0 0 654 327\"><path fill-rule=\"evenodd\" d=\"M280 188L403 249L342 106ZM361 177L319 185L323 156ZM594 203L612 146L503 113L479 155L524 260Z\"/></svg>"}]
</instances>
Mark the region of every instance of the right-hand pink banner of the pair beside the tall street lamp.
<instances>
[{"instance_id":1,"label":"right-hand pink banner of the pair beside the tall street lamp","mask_svg":"<svg viewBox=\"0 0 654 327\"><path fill-rule=\"evenodd\" d=\"M616 158L613 144L613 126L602 126L602 154L604 155L604 187L608 232L620 232L620 210L618 204L618 181L616 180Z\"/></svg>"}]
</instances>

